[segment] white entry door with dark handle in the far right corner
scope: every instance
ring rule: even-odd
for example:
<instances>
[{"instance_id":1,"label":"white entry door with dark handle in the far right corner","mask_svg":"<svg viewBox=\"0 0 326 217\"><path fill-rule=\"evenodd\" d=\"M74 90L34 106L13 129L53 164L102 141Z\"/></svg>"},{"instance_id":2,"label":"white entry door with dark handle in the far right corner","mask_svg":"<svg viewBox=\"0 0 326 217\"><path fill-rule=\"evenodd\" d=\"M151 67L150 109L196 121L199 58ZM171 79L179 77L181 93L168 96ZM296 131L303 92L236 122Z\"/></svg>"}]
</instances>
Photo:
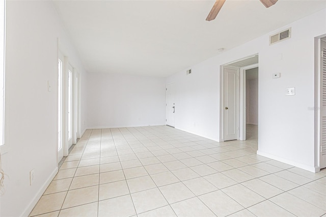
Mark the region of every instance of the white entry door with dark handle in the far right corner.
<instances>
[{"instance_id":1,"label":"white entry door with dark handle in the far right corner","mask_svg":"<svg viewBox=\"0 0 326 217\"><path fill-rule=\"evenodd\" d=\"M168 84L166 89L166 122L169 126L175 126L174 83Z\"/></svg>"}]
</instances>

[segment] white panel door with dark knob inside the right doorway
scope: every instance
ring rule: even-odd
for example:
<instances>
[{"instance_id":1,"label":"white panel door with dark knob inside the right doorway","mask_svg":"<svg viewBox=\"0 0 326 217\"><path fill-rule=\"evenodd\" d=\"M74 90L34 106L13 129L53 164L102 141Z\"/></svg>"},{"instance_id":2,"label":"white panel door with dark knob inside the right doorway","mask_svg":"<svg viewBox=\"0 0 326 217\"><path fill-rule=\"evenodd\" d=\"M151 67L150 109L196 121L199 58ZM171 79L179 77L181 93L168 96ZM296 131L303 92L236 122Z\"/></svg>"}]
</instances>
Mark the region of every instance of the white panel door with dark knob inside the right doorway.
<instances>
[{"instance_id":1,"label":"white panel door with dark knob inside the right doorway","mask_svg":"<svg viewBox=\"0 0 326 217\"><path fill-rule=\"evenodd\" d=\"M224 66L224 141L238 139L239 70Z\"/></svg>"}]
</instances>

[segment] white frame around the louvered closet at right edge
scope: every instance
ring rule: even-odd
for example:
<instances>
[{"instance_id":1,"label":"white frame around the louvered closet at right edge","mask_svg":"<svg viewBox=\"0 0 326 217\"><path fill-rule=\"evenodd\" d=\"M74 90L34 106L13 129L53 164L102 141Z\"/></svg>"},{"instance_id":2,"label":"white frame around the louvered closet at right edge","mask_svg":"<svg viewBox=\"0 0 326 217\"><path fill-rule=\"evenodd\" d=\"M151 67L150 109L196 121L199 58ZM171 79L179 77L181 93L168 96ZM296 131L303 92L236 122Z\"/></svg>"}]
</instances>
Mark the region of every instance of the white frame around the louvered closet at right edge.
<instances>
[{"instance_id":1,"label":"white frame around the louvered closet at right edge","mask_svg":"<svg viewBox=\"0 0 326 217\"><path fill-rule=\"evenodd\" d=\"M320 110L321 110L321 38L326 37L326 34L317 36L314 38L314 45L315 45L315 88L314 88L314 167L315 172L320 171L320 164L321 164L321 158L320 158L320 147L321 147L321 141L320 141Z\"/></svg>"}]
</instances>

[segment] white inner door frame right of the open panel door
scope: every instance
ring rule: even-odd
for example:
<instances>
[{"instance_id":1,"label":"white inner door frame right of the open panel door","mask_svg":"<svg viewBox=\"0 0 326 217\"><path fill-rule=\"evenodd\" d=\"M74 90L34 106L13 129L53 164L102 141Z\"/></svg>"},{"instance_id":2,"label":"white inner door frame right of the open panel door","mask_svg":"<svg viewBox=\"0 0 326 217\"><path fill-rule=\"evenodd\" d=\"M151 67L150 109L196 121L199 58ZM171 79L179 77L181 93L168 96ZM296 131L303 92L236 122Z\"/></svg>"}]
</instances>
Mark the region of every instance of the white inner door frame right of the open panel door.
<instances>
[{"instance_id":1,"label":"white inner door frame right of the open panel door","mask_svg":"<svg viewBox=\"0 0 326 217\"><path fill-rule=\"evenodd\" d=\"M239 140L246 140L246 134L247 134L247 70L258 68L258 74L259 74L259 66L258 63L250 65L250 66L244 66L240 67L240 73L239 73ZM259 79L259 76L258 76ZM259 98L259 96L258 96Z\"/></svg>"}]
</instances>

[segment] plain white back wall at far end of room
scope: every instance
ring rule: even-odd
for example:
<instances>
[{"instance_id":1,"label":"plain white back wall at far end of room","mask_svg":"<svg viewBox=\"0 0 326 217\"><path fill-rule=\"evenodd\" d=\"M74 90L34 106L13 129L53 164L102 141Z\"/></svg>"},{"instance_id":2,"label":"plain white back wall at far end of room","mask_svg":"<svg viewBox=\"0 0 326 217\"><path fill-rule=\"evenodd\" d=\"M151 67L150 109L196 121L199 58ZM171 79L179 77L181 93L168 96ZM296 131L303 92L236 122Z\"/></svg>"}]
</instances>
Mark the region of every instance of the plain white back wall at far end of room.
<instances>
[{"instance_id":1,"label":"plain white back wall at far end of room","mask_svg":"<svg viewBox=\"0 0 326 217\"><path fill-rule=\"evenodd\" d=\"M88 128L165 125L165 78L87 74Z\"/></svg>"}]
</instances>

